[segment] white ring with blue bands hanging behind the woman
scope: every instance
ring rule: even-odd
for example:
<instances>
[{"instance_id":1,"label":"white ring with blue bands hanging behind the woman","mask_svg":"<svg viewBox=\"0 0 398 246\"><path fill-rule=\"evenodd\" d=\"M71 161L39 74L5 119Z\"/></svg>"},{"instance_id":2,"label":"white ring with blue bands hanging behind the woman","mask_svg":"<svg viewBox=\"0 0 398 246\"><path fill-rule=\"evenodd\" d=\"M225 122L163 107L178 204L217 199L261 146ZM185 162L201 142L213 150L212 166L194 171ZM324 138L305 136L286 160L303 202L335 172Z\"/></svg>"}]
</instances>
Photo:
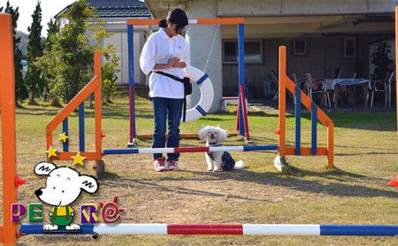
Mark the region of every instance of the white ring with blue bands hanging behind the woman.
<instances>
[{"instance_id":1,"label":"white ring with blue bands hanging behind the woman","mask_svg":"<svg viewBox=\"0 0 398 246\"><path fill-rule=\"evenodd\" d=\"M211 84L209 75L207 75L207 73L203 73L203 71L193 66L188 66L187 74L191 79L191 82L195 82L201 89L201 99L199 100L199 103L195 105L195 107L187 110L185 119L186 122L201 119L203 116L205 116L207 111L210 110L214 99L213 85Z\"/></svg>"}]
</instances>

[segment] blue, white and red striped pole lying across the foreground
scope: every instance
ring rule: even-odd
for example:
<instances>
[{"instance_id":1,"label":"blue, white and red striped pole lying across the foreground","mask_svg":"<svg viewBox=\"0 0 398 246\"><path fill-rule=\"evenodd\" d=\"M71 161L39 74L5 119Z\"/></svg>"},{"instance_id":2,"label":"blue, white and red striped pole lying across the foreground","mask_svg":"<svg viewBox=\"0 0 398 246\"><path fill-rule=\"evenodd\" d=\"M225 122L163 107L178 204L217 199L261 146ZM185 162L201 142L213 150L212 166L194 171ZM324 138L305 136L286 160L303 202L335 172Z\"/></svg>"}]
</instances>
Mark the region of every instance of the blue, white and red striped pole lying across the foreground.
<instances>
[{"instance_id":1,"label":"blue, white and red striped pole lying across the foreground","mask_svg":"<svg viewBox=\"0 0 398 246\"><path fill-rule=\"evenodd\" d=\"M22 224L26 234L242 234L242 235L352 235L398 236L394 225L294 224L82 224L80 231L43 231L42 224Z\"/></svg>"}]
</instances>

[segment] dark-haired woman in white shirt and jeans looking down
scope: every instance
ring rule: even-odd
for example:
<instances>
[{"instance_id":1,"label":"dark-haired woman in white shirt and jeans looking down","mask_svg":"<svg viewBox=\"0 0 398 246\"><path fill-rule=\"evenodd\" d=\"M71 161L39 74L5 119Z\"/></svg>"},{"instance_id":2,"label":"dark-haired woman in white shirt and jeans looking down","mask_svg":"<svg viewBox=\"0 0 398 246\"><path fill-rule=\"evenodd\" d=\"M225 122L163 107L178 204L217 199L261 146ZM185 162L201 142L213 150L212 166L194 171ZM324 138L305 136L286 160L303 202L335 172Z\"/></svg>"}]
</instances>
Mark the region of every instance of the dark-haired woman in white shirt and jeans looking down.
<instances>
[{"instance_id":1,"label":"dark-haired woman in white shirt and jeans looking down","mask_svg":"<svg viewBox=\"0 0 398 246\"><path fill-rule=\"evenodd\" d=\"M140 57L142 72L151 71L169 73L182 79L184 68L189 65L188 42L180 35L188 26L185 12L177 8L162 19L156 33L149 36ZM180 119L184 101L184 85L164 74L151 73L149 76L149 96L154 111L154 133L152 148L175 148L180 144ZM168 138L165 139L166 121ZM178 171L180 153L168 153L167 159L162 153L153 155L157 172Z\"/></svg>"}]
</instances>

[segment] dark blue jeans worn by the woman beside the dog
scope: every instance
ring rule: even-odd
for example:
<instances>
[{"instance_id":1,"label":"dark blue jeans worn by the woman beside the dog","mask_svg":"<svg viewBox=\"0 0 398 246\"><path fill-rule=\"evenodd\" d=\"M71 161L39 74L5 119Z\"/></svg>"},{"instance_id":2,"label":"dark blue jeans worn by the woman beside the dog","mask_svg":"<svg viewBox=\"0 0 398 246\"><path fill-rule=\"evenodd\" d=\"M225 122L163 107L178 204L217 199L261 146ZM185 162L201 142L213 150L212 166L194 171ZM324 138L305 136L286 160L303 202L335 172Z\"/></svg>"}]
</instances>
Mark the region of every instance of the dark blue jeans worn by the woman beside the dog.
<instances>
[{"instance_id":1,"label":"dark blue jeans worn by the woman beside the dog","mask_svg":"<svg viewBox=\"0 0 398 246\"><path fill-rule=\"evenodd\" d=\"M152 148L165 148L166 120L168 124L167 148L175 148L180 145L180 119L182 115L182 104L184 99L173 99L165 97L152 97L154 114L154 132ZM153 159L163 157L162 153L153 154ZM167 153L167 160L178 160L180 153Z\"/></svg>"}]
</instances>

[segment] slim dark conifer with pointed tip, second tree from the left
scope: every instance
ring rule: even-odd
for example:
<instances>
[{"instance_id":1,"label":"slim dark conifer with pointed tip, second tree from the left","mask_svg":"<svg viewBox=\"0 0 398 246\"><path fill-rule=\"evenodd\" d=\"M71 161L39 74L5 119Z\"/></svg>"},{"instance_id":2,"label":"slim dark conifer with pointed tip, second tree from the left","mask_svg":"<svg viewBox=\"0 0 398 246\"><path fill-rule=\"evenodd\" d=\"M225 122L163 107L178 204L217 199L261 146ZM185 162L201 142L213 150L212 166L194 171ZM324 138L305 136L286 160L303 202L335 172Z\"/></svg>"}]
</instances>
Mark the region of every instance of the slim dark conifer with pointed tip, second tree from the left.
<instances>
[{"instance_id":1,"label":"slim dark conifer with pointed tip, second tree from the left","mask_svg":"<svg viewBox=\"0 0 398 246\"><path fill-rule=\"evenodd\" d=\"M41 58L43 54L42 47L42 8L40 1L37 2L34 13L32 14L32 26L27 27L29 32L29 42L27 43L27 74L25 75L25 83L30 93L30 104L34 103L34 98L42 95L45 88L42 72L34 64L37 58Z\"/></svg>"}]
</instances>

